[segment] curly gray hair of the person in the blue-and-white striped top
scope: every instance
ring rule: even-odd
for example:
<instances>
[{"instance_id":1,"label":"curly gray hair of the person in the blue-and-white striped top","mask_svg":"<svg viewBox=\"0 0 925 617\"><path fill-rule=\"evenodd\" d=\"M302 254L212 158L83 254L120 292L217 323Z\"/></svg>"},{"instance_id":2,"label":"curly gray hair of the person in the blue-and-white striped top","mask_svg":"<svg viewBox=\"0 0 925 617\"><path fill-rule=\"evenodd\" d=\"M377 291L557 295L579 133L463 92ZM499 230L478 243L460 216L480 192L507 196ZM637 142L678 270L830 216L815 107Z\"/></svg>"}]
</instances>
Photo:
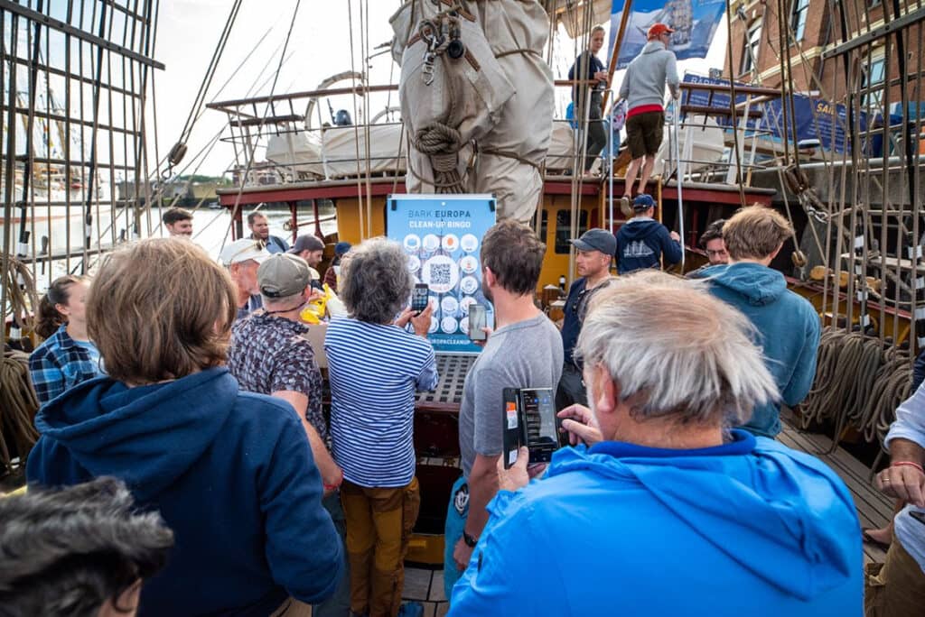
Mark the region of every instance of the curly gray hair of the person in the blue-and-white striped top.
<instances>
[{"instance_id":1,"label":"curly gray hair of the person in the blue-and-white striped top","mask_svg":"<svg viewBox=\"0 0 925 617\"><path fill-rule=\"evenodd\" d=\"M408 256L385 237L364 240L351 248L341 264L340 299L351 317L389 323L411 296Z\"/></svg>"}]
</instances>

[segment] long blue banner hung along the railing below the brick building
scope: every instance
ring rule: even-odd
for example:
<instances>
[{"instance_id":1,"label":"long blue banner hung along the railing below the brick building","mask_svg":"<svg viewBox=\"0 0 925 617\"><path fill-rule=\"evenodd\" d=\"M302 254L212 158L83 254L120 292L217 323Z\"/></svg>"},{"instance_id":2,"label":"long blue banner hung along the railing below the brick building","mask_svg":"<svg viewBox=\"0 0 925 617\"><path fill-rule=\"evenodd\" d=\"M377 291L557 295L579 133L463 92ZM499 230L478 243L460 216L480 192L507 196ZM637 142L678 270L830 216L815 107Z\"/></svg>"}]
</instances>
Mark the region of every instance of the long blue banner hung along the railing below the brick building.
<instances>
[{"instance_id":1,"label":"long blue banner hung along the railing below the brick building","mask_svg":"<svg viewBox=\"0 0 925 617\"><path fill-rule=\"evenodd\" d=\"M704 83L719 84L729 86L729 79L712 79L701 77L699 75L685 75L687 83ZM746 86L744 83L736 82L737 86ZM819 139L820 148L828 151L842 153L846 148L851 147L851 141L845 132L848 126L847 108L845 105L830 103L819 97L807 96L805 94L791 94L793 100L793 112L788 120L796 124L796 140L803 141L806 139ZM740 94L735 97L736 103L744 103L746 95ZM685 91L682 98L682 104L708 105L729 109L729 94L723 92L709 91ZM781 141L790 139L793 141L793 133L783 134L783 99L775 98L766 103L756 103L753 109L759 109L762 117L759 119L748 120L747 127L756 130L767 131L763 136L766 139ZM728 117L713 116L721 127L729 127L732 121ZM858 130L863 132L867 130L868 115L861 112L857 118ZM792 131L793 129L789 129ZM870 156L880 156L881 135L871 135L870 146L864 150ZM863 147L863 146L862 146ZM880 149L882 150L882 149Z\"/></svg>"}]
</instances>

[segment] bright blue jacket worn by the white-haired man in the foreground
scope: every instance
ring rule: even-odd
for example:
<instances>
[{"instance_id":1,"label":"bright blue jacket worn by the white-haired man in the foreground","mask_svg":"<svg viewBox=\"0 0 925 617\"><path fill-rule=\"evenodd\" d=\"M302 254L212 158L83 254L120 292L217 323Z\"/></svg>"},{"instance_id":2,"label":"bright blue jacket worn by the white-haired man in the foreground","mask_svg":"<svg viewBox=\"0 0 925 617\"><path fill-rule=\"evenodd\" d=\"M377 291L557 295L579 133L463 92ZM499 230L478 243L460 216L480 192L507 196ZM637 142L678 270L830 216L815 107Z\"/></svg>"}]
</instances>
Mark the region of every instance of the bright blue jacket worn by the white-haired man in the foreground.
<instances>
[{"instance_id":1,"label":"bright blue jacket worn by the white-haired man in the foreground","mask_svg":"<svg viewBox=\"0 0 925 617\"><path fill-rule=\"evenodd\" d=\"M557 452L545 478L488 504L450 617L860 617L845 484L813 456L733 436Z\"/></svg>"}]
</instances>

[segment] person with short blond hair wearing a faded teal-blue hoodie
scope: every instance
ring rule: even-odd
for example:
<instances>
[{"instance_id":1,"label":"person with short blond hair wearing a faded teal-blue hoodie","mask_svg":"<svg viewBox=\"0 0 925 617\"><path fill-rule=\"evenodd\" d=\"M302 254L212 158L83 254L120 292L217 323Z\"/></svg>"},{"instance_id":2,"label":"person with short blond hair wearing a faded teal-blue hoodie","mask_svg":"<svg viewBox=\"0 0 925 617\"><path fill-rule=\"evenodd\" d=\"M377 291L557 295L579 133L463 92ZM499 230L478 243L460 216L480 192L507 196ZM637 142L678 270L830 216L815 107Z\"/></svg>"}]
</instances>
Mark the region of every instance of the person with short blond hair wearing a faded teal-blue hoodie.
<instances>
[{"instance_id":1,"label":"person with short blond hair wearing a faded teal-blue hoodie","mask_svg":"<svg viewBox=\"0 0 925 617\"><path fill-rule=\"evenodd\" d=\"M800 403L816 377L820 320L809 301L787 289L783 274L771 269L771 260L793 236L783 216L764 206L736 212L722 226L729 265L702 271L710 293L746 314L756 329L756 344L767 358L785 405ZM775 437L781 432L781 408L769 402L755 408L743 427L756 435Z\"/></svg>"}]
</instances>

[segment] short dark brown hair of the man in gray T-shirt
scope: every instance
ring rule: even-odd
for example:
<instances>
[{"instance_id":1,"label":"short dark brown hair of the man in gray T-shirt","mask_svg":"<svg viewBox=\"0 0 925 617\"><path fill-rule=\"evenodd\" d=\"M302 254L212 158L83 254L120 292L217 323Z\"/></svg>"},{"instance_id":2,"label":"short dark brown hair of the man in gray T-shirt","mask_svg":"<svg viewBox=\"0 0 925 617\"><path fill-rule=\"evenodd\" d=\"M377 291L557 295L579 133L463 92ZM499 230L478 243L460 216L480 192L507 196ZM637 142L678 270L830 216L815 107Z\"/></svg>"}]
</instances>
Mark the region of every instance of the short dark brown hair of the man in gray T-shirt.
<instances>
[{"instance_id":1,"label":"short dark brown hair of the man in gray T-shirt","mask_svg":"<svg viewBox=\"0 0 925 617\"><path fill-rule=\"evenodd\" d=\"M482 267L490 268L501 287L517 296L536 292L546 245L533 229L505 219L488 230L482 239Z\"/></svg>"}]
</instances>

